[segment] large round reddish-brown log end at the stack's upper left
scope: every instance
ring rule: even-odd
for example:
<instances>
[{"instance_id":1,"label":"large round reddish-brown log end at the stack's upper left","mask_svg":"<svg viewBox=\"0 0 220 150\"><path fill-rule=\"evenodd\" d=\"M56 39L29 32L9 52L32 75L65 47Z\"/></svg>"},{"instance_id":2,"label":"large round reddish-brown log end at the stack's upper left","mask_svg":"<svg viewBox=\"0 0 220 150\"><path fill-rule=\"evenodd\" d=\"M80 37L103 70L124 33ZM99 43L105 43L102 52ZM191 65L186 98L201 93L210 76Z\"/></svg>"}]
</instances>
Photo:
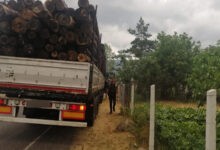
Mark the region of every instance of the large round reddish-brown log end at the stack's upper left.
<instances>
[{"instance_id":1,"label":"large round reddish-brown log end at the stack's upper left","mask_svg":"<svg viewBox=\"0 0 220 150\"><path fill-rule=\"evenodd\" d=\"M17 33L25 33L27 30L27 22L21 17L15 18L12 21L12 30Z\"/></svg>"}]
</instances>

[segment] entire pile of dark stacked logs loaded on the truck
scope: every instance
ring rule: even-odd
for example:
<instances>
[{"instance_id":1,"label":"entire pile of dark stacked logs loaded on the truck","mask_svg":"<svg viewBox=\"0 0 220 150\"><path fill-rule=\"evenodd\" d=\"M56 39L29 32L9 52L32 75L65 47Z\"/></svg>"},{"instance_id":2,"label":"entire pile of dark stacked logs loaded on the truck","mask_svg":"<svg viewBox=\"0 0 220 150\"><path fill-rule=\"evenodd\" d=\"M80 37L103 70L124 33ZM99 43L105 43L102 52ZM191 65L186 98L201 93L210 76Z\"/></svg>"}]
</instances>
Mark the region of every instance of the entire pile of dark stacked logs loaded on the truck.
<instances>
[{"instance_id":1,"label":"entire pile of dark stacked logs loaded on the truck","mask_svg":"<svg viewBox=\"0 0 220 150\"><path fill-rule=\"evenodd\" d=\"M9 0L0 3L0 55L96 64L105 73L97 7L79 0Z\"/></svg>"}]
</instances>

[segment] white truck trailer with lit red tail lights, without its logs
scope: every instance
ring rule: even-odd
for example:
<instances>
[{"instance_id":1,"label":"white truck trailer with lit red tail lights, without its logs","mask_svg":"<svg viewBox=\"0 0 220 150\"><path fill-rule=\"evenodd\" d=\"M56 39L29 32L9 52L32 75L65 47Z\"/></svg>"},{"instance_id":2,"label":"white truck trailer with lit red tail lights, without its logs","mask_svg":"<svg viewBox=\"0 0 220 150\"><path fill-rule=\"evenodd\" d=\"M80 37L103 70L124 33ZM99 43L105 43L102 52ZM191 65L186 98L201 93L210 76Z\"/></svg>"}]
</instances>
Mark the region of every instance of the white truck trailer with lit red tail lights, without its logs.
<instances>
[{"instance_id":1,"label":"white truck trailer with lit red tail lights, without its logs","mask_svg":"<svg viewBox=\"0 0 220 150\"><path fill-rule=\"evenodd\" d=\"M104 84L91 63L0 56L0 121L92 126Z\"/></svg>"}]
</instances>

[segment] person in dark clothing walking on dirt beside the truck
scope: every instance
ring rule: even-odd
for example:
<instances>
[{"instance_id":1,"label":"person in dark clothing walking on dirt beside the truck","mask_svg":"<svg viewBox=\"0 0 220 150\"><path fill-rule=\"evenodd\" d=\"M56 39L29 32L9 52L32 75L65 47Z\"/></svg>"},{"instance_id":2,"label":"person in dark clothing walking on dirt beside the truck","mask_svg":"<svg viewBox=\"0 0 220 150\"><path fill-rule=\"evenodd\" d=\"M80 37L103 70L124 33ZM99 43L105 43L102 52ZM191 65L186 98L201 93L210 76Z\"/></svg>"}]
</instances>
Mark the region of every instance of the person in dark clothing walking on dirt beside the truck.
<instances>
[{"instance_id":1,"label":"person in dark clothing walking on dirt beside the truck","mask_svg":"<svg viewBox=\"0 0 220 150\"><path fill-rule=\"evenodd\" d=\"M115 80L111 80L111 84L108 87L108 97L109 97L109 103L110 103L110 114L112 114L112 111L115 112L115 105L116 105L116 93L117 88L115 85ZM113 104L113 107L112 107Z\"/></svg>"}]
</instances>

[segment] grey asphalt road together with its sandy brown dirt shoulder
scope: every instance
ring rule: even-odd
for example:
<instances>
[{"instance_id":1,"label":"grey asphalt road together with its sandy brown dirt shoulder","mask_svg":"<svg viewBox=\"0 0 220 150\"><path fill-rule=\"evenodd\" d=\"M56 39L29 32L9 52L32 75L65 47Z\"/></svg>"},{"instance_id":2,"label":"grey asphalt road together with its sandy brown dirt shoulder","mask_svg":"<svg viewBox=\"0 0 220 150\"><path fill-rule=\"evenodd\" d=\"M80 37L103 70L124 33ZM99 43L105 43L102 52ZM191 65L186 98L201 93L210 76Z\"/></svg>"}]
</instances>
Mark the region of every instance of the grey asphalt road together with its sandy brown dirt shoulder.
<instances>
[{"instance_id":1,"label":"grey asphalt road together with its sandy brown dirt shoulder","mask_svg":"<svg viewBox=\"0 0 220 150\"><path fill-rule=\"evenodd\" d=\"M122 120L116 106L110 115L104 101L92 128L0 122L0 150L130 150L133 136L115 131Z\"/></svg>"}]
</instances>

